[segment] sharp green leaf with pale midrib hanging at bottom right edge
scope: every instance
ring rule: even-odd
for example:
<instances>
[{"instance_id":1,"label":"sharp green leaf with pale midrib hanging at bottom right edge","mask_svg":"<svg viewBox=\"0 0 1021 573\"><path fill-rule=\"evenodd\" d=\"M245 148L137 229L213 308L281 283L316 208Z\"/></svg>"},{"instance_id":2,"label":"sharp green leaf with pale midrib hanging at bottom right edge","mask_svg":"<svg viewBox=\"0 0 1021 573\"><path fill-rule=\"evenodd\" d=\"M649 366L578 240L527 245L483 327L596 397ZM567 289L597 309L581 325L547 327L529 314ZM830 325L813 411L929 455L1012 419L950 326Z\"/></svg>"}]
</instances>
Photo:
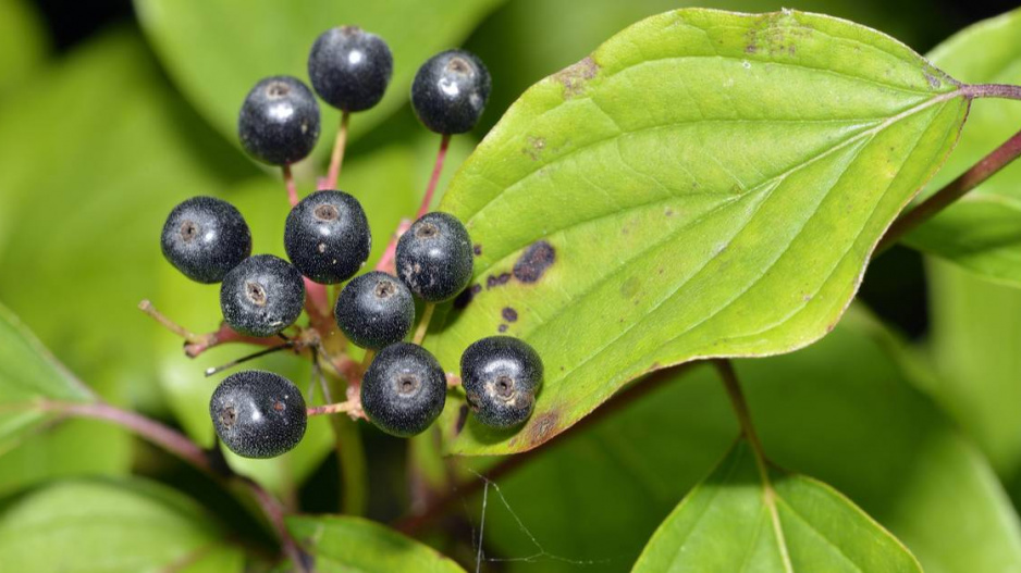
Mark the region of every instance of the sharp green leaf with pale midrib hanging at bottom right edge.
<instances>
[{"instance_id":1,"label":"sharp green leaf with pale midrib hanging at bottom right edge","mask_svg":"<svg viewBox=\"0 0 1021 573\"><path fill-rule=\"evenodd\" d=\"M889 571L922 568L822 482L755 465L739 440L649 540L632 571Z\"/></svg>"}]
</instances>

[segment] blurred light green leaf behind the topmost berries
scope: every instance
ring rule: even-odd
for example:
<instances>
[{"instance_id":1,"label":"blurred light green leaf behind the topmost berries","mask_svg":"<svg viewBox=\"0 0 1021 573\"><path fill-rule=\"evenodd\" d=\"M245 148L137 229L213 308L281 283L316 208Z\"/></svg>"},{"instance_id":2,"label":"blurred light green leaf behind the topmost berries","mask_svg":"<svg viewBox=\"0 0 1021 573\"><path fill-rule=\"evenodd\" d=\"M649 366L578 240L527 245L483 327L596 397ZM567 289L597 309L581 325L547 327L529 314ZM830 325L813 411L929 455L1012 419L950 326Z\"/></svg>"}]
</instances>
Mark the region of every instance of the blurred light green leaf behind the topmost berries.
<instances>
[{"instance_id":1,"label":"blurred light green leaf behind the topmost berries","mask_svg":"<svg viewBox=\"0 0 1021 573\"><path fill-rule=\"evenodd\" d=\"M237 110L260 78L291 74L307 82L308 51L331 26L353 24L380 35L394 54L383 100L358 113L365 133L408 99L411 78L429 57L459 43L501 0L136 0L143 26L171 76L229 140L237 140ZM323 104L319 157L330 152L339 112Z\"/></svg>"}]
</instances>

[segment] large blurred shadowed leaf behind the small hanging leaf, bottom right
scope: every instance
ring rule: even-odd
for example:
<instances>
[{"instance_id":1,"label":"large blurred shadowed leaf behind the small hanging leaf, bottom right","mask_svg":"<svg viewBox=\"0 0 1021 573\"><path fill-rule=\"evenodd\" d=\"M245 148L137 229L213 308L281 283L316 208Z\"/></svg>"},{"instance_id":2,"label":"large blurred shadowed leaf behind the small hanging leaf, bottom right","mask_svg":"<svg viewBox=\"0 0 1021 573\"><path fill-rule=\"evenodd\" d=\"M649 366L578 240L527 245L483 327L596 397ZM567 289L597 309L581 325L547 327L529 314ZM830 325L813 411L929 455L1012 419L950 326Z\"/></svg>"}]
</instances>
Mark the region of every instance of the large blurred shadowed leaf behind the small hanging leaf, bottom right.
<instances>
[{"instance_id":1,"label":"large blurred shadowed leaf behind the small hanging leaf, bottom right","mask_svg":"<svg viewBox=\"0 0 1021 573\"><path fill-rule=\"evenodd\" d=\"M771 459L847 495L925 571L1021 566L1018 518L988 462L913 388L896 344L859 308L808 349L736 365ZM510 572L562 571L565 561L623 571L737 432L711 368L675 376L497 479L485 556L514 560ZM480 515L471 505L476 527Z\"/></svg>"}]
</instances>

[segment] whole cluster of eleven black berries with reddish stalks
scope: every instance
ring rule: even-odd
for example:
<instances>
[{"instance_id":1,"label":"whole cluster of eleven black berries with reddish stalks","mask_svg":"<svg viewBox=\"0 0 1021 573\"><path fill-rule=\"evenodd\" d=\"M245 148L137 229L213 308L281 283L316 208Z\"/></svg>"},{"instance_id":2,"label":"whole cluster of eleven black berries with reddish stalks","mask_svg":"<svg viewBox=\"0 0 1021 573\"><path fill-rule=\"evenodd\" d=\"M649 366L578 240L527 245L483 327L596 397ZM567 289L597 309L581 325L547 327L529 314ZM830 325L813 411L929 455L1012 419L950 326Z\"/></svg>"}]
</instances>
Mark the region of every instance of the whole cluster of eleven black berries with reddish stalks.
<instances>
[{"instance_id":1,"label":"whole cluster of eleven black berries with reddish stalks","mask_svg":"<svg viewBox=\"0 0 1021 573\"><path fill-rule=\"evenodd\" d=\"M167 260L193 281L220 283L220 331L195 336L174 325L186 335L189 354L222 341L275 345L223 368L286 348L308 353L317 371L322 361L347 378L349 400L318 408L306 408L298 388L271 372L244 371L224 378L212 395L209 413L217 435L241 456L269 458L294 448L309 414L347 412L389 434L413 436L443 411L452 384L418 342L433 306L453 299L470 282L472 245L456 217L427 211L450 137L478 122L489 98L490 76L477 57L463 50L444 51L419 68L411 105L426 127L443 136L436 170L418 220L404 233L398 229L399 238L376 270L355 276L369 257L372 236L361 204L335 189L336 177L349 113L376 105L392 71L385 41L343 26L327 30L312 46L308 75L315 94L300 79L272 76L257 83L245 98L237 122L242 146L253 158L283 167L287 183L292 209L284 250L290 262L272 254L253 256L244 217L220 199L188 199L173 209L163 226ZM320 190L298 200L290 165L305 159L319 138L316 95L341 110L341 128L329 176L320 180ZM330 316L324 285L341 284ZM414 342L406 342L415 324L416 296L425 302L425 311ZM172 324L151 306L144 310ZM295 325L303 310L309 315L307 327ZM331 337L341 340L341 349L347 341L365 348L366 360L359 365L343 351L327 351L324 341ZM539 354L507 336L469 346L460 372L476 418L495 427L513 427L528 419L543 375Z\"/></svg>"}]
</instances>

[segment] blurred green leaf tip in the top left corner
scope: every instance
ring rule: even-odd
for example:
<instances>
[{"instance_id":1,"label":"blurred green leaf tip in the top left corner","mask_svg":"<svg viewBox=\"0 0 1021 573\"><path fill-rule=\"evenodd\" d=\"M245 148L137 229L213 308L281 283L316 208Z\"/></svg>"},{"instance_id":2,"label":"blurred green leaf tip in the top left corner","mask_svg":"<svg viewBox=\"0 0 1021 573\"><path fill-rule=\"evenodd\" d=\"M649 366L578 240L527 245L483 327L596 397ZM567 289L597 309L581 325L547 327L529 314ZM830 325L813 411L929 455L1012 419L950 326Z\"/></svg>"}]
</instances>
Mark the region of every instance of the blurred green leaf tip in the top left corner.
<instances>
[{"instance_id":1,"label":"blurred green leaf tip in the top left corner","mask_svg":"<svg viewBox=\"0 0 1021 573\"><path fill-rule=\"evenodd\" d=\"M0 0L0 98L14 91L42 61L49 40L39 16L23 0Z\"/></svg>"}]
</instances>

